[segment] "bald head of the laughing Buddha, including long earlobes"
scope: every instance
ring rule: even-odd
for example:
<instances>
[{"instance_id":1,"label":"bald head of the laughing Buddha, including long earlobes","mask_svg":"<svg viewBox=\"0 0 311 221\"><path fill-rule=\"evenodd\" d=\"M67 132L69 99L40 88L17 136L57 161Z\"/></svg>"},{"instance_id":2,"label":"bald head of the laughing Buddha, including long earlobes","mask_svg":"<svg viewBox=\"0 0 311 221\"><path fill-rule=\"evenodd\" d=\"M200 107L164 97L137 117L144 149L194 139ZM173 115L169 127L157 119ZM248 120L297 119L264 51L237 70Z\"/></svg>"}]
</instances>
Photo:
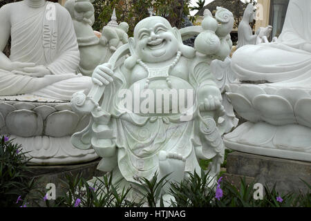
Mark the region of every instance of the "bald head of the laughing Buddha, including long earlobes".
<instances>
[{"instance_id":1,"label":"bald head of the laughing Buddha, including long earlobes","mask_svg":"<svg viewBox=\"0 0 311 221\"><path fill-rule=\"evenodd\" d=\"M194 48L182 44L178 29L172 28L167 19L158 16L147 17L135 26L129 48L132 60L141 59L147 63L167 61L176 57L178 50L186 57L194 57ZM128 61L126 64L132 63Z\"/></svg>"}]
</instances>

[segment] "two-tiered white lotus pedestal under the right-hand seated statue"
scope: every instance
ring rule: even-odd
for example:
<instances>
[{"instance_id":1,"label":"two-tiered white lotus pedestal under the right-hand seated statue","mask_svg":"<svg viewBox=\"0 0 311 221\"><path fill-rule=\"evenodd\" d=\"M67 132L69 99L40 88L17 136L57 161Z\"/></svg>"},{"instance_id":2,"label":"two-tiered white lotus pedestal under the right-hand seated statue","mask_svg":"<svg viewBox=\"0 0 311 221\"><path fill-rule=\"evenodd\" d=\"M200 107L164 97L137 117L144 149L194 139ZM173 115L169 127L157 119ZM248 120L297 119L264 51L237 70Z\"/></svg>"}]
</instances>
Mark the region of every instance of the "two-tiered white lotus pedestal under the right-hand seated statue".
<instances>
[{"instance_id":1,"label":"two-tiered white lotus pedestal under the right-hand seated statue","mask_svg":"<svg viewBox=\"0 0 311 221\"><path fill-rule=\"evenodd\" d=\"M225 135L228 148L311 162L311 90L230 84L227 95L247 120Z\"/></svg>"}]
</instances>

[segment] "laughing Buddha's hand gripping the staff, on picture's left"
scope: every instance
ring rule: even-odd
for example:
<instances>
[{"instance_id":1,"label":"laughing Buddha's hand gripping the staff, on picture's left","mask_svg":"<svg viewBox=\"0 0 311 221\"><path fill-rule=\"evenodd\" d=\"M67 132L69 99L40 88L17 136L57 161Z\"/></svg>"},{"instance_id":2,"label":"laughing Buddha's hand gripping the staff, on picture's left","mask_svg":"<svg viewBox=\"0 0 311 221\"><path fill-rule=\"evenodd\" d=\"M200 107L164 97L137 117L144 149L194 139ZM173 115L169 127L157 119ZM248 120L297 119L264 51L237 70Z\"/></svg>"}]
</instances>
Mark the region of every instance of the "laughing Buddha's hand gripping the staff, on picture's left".
<instances>
[{"instance_id":1,"label":"laughing Buddha's hand gripping the staff, on picture's left","mask_svg":"<svg viewBox=\"0 0 311 221\"><path fill-rule=\"evenodd\" d=\"M113 70L111 64L105 63L97 66L93 72L92 80L94 84L99 86L108 85L113 81Z\"/></svg>"}]
</instances>

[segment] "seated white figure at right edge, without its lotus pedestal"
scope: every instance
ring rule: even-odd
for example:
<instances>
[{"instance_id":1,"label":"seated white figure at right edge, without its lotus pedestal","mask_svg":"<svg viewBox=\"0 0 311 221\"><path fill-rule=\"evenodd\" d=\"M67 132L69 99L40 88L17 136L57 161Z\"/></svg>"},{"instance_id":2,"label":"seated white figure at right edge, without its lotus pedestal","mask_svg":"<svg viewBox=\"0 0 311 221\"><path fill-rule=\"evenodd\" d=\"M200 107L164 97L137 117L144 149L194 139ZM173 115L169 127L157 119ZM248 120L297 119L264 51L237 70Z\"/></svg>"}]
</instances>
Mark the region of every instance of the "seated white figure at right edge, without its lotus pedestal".
<instances>
[{"instance_id":1,"label":"seated white figure at right edge, without its lotus pedestal","mask_svg":"<svg viewBox=\"0 0 311 221\"><path fill-rule=\"evenodd\" d=\"M271 86L311 86L311 1L291 0L279 39L238 48L232 69L240 81Z\"/></svg>"}]
</instances>

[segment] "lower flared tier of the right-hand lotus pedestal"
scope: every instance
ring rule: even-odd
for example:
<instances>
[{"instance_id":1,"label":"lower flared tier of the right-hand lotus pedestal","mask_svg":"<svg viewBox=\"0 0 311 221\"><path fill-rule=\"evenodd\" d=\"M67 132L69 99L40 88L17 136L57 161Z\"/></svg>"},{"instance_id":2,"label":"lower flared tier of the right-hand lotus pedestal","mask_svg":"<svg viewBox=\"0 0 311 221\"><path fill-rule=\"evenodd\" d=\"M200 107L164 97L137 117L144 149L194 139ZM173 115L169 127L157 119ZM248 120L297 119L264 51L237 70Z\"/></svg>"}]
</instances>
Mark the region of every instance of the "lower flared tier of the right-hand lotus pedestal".
<instances>
[{"instance_id":1,"label":"lower flared tier of the right-hand lotus pedestal","mask_svg":"<svg viewBox=\"0 0 311 221\"><path fill-rule=\"evenodd\" d=\"M245 153L311 162L311 128L245 122L224 136L227 148Z\"/></svg>"}]
</instances>

